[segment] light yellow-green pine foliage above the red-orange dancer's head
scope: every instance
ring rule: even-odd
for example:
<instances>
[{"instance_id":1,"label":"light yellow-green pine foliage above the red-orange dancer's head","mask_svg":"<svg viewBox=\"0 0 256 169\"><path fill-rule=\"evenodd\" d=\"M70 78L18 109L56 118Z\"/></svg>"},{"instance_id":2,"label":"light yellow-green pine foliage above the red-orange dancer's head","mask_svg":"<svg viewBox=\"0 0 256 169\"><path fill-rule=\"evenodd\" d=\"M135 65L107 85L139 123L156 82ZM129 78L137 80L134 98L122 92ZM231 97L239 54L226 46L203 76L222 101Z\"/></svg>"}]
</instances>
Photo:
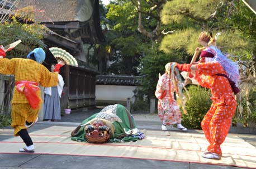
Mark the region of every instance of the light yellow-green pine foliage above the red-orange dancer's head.
<instances>
[{"instance_id":1,"label":"light yellow-green pine foliage above the red-orange dancer's head","mask_svg":"<svg viewBox=\"0 0 256 169\"><path fill-rule=\"evenodd\" d=\"M243 2L228 0L190 0L183 3L178 0L168 1L164 4L161 20L170 28L176 25L173 27L176 32L163 37L160 50L168 53L175 49L184 49L188 55L193 55L199 45L197 38L200 32L211 31L213 35L221 33L217 46L222 52L253 52L253 39L244 36L248 31L245 31L245 27L238 28L238 25L241 23L239 21L243 21L244 26L249 26L250 22L254 21L250 16L254 14L252 11L243 12L241 9L247 11L249 8ZM215 17L209 18L215 11ZM242 13L247 18L242 16Z\"/></svg>"}]
</instances>

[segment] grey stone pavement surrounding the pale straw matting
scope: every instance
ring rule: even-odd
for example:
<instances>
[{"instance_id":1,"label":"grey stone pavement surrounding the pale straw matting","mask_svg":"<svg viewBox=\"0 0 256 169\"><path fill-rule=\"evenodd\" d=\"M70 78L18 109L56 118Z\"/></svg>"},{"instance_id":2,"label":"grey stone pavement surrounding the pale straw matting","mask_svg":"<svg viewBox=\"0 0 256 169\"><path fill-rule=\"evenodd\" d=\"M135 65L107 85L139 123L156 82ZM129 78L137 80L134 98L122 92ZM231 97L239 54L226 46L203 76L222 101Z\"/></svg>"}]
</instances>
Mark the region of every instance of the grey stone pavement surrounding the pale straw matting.
<instances>
[{"instance_id":1,"label":"grey stone pavement surrounding the pale straw matting","mask_svg":"<svg viewBox=\"0 0 256 169\"><path fill-rule=\"evenodd\" d=\"M31 129L40 130L53 125L72 126L82 122L83 119L99 112L98 109L78 109L72 110L71 114L64 114L60 122L38 122ZM161 126L157 115L154 114L133 114L139 129L159 130ZM11 129L11 127L6 127ZM176 132L177 129L173 129ZM1 129L0 129L1 131ZM202 132L188 130L187 132ZM230 133L235 134L235 133ZM256 147L256 136L253 134L235 134L243 138L246 142ZM0 135L0 141L13 137L11 135ZM256 162L256 160L255 160ZM69 156L53 154L8 154L0 153L0 168L184 168L184 169L204 169L220 168L235 169L241 167L207 165L192 162L176 161L158 161L158 160L138 160L131 158L113 158L113 157L89 157L89 156Z\"/></svg>"}]
</instances>

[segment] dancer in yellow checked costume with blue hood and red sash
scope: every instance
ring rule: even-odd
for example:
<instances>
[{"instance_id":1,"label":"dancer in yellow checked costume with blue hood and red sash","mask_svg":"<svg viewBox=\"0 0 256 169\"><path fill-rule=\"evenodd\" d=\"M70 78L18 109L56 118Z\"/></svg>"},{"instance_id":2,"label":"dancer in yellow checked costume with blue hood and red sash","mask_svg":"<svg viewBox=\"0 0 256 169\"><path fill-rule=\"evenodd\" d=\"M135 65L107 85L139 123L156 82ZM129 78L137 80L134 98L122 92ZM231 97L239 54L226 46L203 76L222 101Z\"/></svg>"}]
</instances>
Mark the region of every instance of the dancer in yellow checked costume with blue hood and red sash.
<instances>
[{"instance_id":1,"label":"dancer in yellow checked costume with blue hood and red sash","mask_svg":"<svg viewBox=\"0 0 256 169\"><path fill-rule=\"evenodd\" d=\"M0 56L6 52L1 45ZM12 127L14 135L20 136L26 147L20 152L34 152L34 144L27 132L27 128L34 125L38 119L41 107L41 91L38 86L50 87L58 85L58 73L51 73L41 63L45 59L45 52L36 48L27 55L27 59L0 59L0 73L15 75L15 89L12 99ZM63 65L60 63L60 66ZM60 67L59 66L59 67Z\"/></svg>"}]
</instances>

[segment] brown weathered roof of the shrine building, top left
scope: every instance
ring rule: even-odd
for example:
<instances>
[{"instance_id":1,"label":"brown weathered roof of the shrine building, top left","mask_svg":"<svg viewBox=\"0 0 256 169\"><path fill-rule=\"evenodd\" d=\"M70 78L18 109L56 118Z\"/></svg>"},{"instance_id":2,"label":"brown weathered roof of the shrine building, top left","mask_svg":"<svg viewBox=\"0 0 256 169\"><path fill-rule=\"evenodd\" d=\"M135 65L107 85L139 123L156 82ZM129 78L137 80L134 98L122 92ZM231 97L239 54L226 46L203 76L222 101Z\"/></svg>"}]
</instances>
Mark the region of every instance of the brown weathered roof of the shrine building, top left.
<instances>
[{"instance_id":1,"label":"brown weathered roof of the shrine building, top left","mask_svg":"<svg viewBox=\"0 0 256 169\"><path fill-rule=\"evenodd\" d=\"M39 11L35 20L39 22L65 22L90 20L93 14L92 0L22 0L16 8L33 6Z\"/></svg>"}]
</instances>

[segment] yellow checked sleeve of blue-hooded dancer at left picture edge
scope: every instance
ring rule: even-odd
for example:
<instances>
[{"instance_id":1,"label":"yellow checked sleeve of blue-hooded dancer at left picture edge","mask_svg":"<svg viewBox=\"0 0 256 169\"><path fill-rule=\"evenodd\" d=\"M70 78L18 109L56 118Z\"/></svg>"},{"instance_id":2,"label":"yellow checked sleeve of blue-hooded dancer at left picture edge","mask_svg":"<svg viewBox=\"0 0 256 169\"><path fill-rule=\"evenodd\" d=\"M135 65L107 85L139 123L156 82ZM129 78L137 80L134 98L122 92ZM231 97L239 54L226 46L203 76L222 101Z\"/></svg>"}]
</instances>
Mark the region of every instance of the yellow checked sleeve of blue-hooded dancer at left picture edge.
<instances>
[{"instance_id":1,"label":"yellow checked sleeve of blue-hooded dancer at left picture edge","mask_svg":"<svg viewBox=\"0 0 256 169\"><path fill-rule=\"evenodd\" d=\"M4 75L15 74L16 59L0 59L0 73Z\"/></svg>"}]
</instances>

